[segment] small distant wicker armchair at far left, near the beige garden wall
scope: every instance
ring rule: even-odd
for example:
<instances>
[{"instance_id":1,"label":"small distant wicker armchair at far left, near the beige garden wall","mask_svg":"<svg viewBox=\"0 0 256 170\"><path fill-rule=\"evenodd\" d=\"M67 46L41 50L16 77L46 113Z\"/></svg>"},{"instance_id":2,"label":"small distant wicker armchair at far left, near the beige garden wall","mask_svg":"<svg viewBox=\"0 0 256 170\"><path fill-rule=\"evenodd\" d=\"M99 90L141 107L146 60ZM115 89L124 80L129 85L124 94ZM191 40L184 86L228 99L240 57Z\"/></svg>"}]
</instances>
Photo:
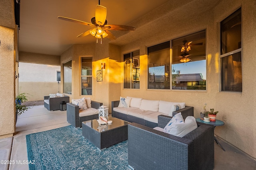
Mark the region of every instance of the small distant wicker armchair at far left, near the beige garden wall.
<instances>
[{"instance_id":1,"label":"small distant wicker armchair at far left, near the beige garden wall","mask_svg":"<svg viewBox=\"0 0 256 170\"><path fill-rule=\"evenodd\" d=\"M58 97L58 98L50 98L50 96L44 96L44 107L51 110L59 110L60 109L60 102L65 101L66 103L69 102L69 96Z\"/></svg>"}]
</instances>

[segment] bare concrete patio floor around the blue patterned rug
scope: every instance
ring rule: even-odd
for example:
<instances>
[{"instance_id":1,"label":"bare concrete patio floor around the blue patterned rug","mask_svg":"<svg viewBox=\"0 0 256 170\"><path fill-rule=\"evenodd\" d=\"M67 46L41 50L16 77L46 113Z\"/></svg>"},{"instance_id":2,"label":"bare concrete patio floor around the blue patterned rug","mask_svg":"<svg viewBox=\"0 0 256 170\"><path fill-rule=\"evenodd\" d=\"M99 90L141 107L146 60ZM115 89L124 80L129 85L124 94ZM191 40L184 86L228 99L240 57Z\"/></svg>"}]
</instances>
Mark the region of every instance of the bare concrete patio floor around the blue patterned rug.
<instances>
[{"instance_id":1,"label":"bare concrete patio floor around the blue patterned rug","mask_svg":"<svg viewBox=\"0 0 256 170\"><path fill-rule=\"evenodd\" d=\"M0 160L13 160L15 164L0 164L0 170L28 170L26 135L70 125L66 111L48 111L34 106L18 117L14 137L0 139ZM241 150L217 137L226 152L214 142L214 170L256 170L256 161ZM202 160L204 161L204 160Z\"/></svg>"}]
</instances>

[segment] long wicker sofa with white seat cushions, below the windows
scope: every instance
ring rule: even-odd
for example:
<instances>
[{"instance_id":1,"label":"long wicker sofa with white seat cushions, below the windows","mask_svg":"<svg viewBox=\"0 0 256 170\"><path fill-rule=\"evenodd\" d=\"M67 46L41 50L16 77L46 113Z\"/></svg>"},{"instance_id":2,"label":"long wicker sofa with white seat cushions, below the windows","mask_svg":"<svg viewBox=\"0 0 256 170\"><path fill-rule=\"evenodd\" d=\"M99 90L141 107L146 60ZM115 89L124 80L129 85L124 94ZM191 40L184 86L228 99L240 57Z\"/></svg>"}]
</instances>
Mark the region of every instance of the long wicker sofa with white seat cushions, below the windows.
<instances>
[{"instance_id":1,"label":"long wicker sofa with white seat cushions, below the windows","mask_svg":"<svg viewBox=\"0 0 256 170\"><path fill-rule=\"evenodd\" d=\"M127 97L129 98L129 97ZM135 100L138 100L139 98L134 98ZM133 100L133 99L132 99ZM144 100L144 99L142 99ZM150 100L147 100L150 101ZM141 112L140 104L137 105L137 108L133 107L132 104L129 108L120 108L118 107L120 100L112 101L111 103L111 114L112 117L116 117L118 119L122 119L124 121L128 122L134 122L138 123L140 125L145 125L147 127L157 127L158 126L158 115L168 115L163 112L160 112L161 102L165 101L159 101L159 110L158 111L147 111L144 110ZM131 102L132 103L132 102ZM167 104L173 103L173 102L166 102ZM162 105L164 107L164 105ZM120 110L120 111L118 111ZM126 111L127 110L127 111ZM139 111L137 111L139 110ZM121 112L122 111L122 112ZM140 113L138 113L140 112ZM178 109L176 111L172 112L172 116L176 115L177 113L181 112L182 117L186 119L188 116L194 116L194 107L191 106L185 106L184 108Z\"/></svg>"}]
</instances>

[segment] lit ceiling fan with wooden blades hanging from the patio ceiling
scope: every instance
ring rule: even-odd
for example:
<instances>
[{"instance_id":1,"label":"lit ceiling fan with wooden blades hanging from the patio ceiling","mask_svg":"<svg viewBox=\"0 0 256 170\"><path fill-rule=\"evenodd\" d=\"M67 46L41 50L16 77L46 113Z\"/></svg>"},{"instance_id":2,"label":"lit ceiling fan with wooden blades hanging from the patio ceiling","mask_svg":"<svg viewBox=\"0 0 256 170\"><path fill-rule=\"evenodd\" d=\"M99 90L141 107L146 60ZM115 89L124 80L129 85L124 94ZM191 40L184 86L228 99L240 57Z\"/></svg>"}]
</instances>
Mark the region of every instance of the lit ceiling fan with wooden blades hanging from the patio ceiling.
<instances>
[{"instance_id":1,"label":"lit ceiling fan with wooden blades hanging from the patio ceiling","mask_svg":"<svg viewBox=\"0 0 256 170\"><path fill-rule=\"evenodd\" d=\"M84 37L86 35L91 34L92 36L96 37L97 43L98 43L98 38L100 38L100 43L102 43L102 38L105 38L107 36L109 39L112 39L112 40L116 39L116 37L108 30L135 31L135 27L131 27L131 26L127 26L127 25L107 24L106 16L107 16L107 8L104 6L101 6L100 0L99 0L99 4L96 6L96 10L95 10L95 17L93 17L91 19L92 23L75 20L75 19L67 18L67 17L63 17L63 16L58 16L58 19L94 27L88 31L81 33L77 37Z\"/></svg>"}]
</instances>

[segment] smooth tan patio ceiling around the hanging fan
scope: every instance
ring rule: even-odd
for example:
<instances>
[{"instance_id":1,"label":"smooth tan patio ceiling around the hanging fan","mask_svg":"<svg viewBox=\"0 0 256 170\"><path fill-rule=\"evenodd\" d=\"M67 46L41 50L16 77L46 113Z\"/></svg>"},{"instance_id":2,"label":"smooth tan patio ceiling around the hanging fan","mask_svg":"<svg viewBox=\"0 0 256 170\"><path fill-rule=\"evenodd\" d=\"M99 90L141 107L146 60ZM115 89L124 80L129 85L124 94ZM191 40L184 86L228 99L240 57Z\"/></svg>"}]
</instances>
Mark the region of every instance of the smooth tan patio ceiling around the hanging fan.
<instances>
[{"instance_id":1,"label":"smooth tan patio ceiling around the hanging fan","mask_svg":"<svg viewBox=\"0 0 256 170\"><path fill-rule=\"evenodd\" d=\"M169 0L101 0L109 24L130 23ZM65 16L90 22L98 0L25 0L20 2L19 51L60 55L72 44L96 43L91 35L76 36L92 27L57 19ZM136 26L136 25L130 25ZM116 37L117 31L111 31ZM127 33L125 31L125 33ZM108 39L104 38L103 43Z\"/></svg>"}]
</instances>

